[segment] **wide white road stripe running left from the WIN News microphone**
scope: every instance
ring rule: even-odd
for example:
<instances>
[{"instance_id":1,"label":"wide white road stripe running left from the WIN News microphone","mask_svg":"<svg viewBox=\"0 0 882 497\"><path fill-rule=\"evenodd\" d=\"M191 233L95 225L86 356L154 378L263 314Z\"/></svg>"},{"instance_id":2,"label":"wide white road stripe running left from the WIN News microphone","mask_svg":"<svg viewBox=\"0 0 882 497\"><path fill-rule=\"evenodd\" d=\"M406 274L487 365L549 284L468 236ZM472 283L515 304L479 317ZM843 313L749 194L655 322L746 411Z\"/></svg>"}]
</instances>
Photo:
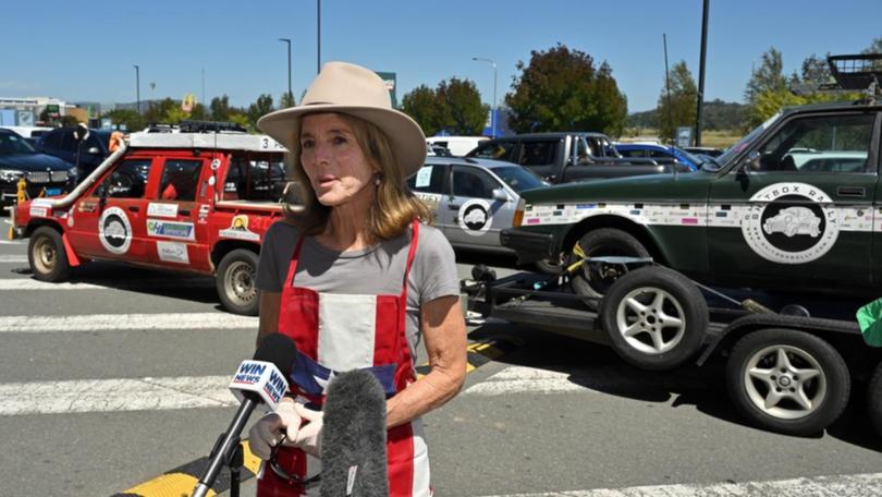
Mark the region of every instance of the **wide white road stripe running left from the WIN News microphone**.
<instances>
[{"instance_id":1,"label":"wide white road stripe running left from the WIN News microphone","mask_svg":"<svg viewBox=\"0 0 882 497\"><path fill-rule=\"evenodd\" d=\"M0 384L0 415L226 408L229 376Z\"/></svg>"}]
</instances>

